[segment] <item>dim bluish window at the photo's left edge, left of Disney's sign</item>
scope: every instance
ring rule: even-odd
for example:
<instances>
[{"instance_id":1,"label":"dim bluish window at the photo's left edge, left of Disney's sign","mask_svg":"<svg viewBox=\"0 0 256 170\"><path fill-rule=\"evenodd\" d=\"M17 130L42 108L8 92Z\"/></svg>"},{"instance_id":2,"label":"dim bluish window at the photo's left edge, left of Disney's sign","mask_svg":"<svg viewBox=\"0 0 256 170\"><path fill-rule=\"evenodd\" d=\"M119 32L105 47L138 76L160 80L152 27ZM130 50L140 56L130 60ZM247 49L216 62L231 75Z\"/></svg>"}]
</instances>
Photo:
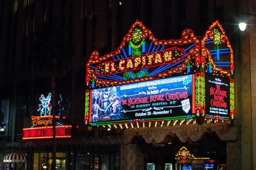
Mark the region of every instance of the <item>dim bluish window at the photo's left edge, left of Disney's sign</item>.
<instances>
[{"instance_id":1,"label":"dim bluish window at the photo's left edge, left of Disney's sign","mask_svg":"<svg viewBox=\"0 0 256 170\"><path fill-rule=\"evenodd\" d=\"M0 101L0 135L7 135L9 122L9 100Z\"/></svg>"}]
</instances>

